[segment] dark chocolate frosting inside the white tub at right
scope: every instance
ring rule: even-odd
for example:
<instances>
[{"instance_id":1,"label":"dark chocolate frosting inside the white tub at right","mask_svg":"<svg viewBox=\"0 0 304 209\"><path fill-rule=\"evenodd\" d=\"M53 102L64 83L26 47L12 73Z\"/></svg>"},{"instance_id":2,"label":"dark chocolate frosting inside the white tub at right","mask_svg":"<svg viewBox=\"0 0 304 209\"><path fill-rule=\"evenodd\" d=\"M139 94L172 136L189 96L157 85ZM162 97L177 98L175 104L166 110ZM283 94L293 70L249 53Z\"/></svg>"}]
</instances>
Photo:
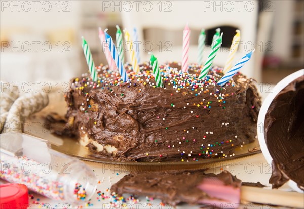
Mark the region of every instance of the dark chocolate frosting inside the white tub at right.
<instances>
[{"instance_id":1,"label":"dark chocolate frosting inside the white tub at right","mask_svg":"<svg viewBox=\"0 0 304 209\"><path fill-rule=\"evenodd\" d=\"M285 87L265 116L264 136L273 158L269 183L278 188L289 179L304 189L304 76Z\"/></svg>"}]
</instances>

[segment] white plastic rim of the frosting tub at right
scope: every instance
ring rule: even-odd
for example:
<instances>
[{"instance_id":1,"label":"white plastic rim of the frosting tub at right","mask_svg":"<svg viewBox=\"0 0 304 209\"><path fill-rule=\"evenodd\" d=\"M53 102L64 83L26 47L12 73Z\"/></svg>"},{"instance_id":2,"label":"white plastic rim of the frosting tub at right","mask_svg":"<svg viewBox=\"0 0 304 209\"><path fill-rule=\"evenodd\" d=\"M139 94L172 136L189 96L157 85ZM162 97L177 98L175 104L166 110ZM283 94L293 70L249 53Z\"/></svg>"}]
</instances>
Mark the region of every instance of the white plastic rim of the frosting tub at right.
<instances>
[{"instance_id":1,"label":"white plastic rim of the frosting tub at right","mask_svg":"<svg viewBox=\"0 0 304 209\"><path fill-rule=\"evenodd\" d=\"M270 104L272 103L272 101L274 100L274 98L277 96L277 94L279 94L287 85L289 85L289 83L291 83L293 80L295 80L296 78L303 76L304 75L304 69L296 71L294 73L292 73L291 75L288 75L287 77L285 77L283 80L281 80L280 82L278 82L278 84L273 88L273 92L270 93L265 100L263 101L263 104L261 106L261 109L259 111L258 114L258 119L257 119L257 137L258 137L258 141L262 150L262 153L266 159L266 161L268 163L272 163L272 156L270 155L268 148L266 146L266 142L265 142L265 137L264 137L264 122L265 122L265 115L268 111L268 108L270 106ZM304 193L303 190L301 190L297 184L292 181L289 180L288 181L288 185L295 191L300 192L300 193Z\"/></svg>"}]
</instances>

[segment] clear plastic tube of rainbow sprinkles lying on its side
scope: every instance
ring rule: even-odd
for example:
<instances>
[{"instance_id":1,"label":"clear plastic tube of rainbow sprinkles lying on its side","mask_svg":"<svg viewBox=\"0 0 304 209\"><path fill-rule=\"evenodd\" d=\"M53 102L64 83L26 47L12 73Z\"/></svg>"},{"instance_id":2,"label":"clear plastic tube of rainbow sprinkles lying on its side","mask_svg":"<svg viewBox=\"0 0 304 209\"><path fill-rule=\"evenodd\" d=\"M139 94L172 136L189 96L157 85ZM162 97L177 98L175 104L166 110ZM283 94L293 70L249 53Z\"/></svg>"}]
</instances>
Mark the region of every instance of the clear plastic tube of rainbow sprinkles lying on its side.
<instances>
[{"instance_id":1,"label":"clear plastic tube of rainbow sprinkles lying on its side","mask_svg":"<svg viewBox=\"0 0 304 209\"><path fill-rule=\"evenodd\" d=\"M0 178L70 204L88 201L97 186L84 162L51 149L46 140L20 133L0 135Z\"/></svg>"}]
</instances>

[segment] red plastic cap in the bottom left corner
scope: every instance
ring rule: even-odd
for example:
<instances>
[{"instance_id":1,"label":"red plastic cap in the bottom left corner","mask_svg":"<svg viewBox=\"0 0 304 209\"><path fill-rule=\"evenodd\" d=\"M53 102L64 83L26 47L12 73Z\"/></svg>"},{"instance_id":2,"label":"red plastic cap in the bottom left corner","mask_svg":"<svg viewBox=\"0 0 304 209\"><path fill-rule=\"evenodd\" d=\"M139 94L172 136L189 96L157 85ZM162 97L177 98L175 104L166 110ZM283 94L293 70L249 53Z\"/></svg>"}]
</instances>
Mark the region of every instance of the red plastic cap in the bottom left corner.
<instances>
[{"instance_id":1,"label":"red plastic cap in the bottom left corner","mask_svg":"<svg viewBox=\"0 0 304 209\"><path fill-rule=\"evenodd\" d=\"M0 185L1 209L26 209L28 204L28 189L24 184Z\"/></svg>"}]
</instances>

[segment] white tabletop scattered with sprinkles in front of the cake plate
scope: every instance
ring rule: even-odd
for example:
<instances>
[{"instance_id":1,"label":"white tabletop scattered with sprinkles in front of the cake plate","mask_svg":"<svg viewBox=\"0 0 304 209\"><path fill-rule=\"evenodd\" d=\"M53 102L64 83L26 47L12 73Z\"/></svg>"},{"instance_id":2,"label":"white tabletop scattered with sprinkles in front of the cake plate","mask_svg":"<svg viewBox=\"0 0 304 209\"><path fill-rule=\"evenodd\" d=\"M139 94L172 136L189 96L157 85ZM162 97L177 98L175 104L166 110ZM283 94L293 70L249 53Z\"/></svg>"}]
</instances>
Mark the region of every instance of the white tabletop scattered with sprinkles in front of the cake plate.
<instances>
[{"instance_id":1,"label":"white tabletop scattered with sprinkles in front of the cake plate","mask_svg":"<svg viewBox=\"0 0 304 209\"><path fill-rule=\"evenodd\" d=\"M259 91L262 98L265 98L267 96L267 93L265 91ZM146 197L138 197L136 200L126 200L126 205L123 205L121 201L116 202L115 205L111 205L110 201L113 201L114 198L110 197L111 193L108 190L113 184L115 184L117 181L119 181L121 178L123 178L125 175L128 174L127 171L120 170L117 167L110 168L109 165L104 165L100 163L94 163L94 162L88 162L84 161L92 170L94 170L96 177L100 181L100 184L97 186L97 191L94 193L93 197L91 198L91 201L89 202L90 205L88 205L88 202L81 202L78 205L68 205L64 204L63 202L58 202L51 200L49 198L43 197L36 193L31 193L33 195L33 199L30 200L31 208L104 208L104 209L112 209L112 208L123 208L123 209L129 209L129 208L172 208L170 205L163 205L161 204L161 201L158 199L155 200L147 200ZM191 162L188 162L191 163ZM252 155L246 158L236 159L234 161L223 161L220 166L217 166L215 168L210 168L206 171L213 172L213 173L220 173L222 170L229 171L233 175L236 175L237 178L242 180L243 182L260 182L263 185L267 185L268 187L265 187L264 189L271 189L271 185L268 183L269 178L271 176L271 165L265 161L263 155L256 154ZM3 180L0 180L0 184L7 183ZM291 190L288 185L284 185L280 188L281 190ZM101 193L105 193L105 196L107 196L104 200L97 194L97 192L100 191ZM124 195L124 197L127 199L130 197L130 195ZM201 208L201 206L193 206L193 205L180 205L177 206L177 208ZM271 208L268 205L260 205L256 206L252 203L245 203L243 205L243 208ZM280 207L282 208L282 207Z\"/></svg>"}]
</instances>

